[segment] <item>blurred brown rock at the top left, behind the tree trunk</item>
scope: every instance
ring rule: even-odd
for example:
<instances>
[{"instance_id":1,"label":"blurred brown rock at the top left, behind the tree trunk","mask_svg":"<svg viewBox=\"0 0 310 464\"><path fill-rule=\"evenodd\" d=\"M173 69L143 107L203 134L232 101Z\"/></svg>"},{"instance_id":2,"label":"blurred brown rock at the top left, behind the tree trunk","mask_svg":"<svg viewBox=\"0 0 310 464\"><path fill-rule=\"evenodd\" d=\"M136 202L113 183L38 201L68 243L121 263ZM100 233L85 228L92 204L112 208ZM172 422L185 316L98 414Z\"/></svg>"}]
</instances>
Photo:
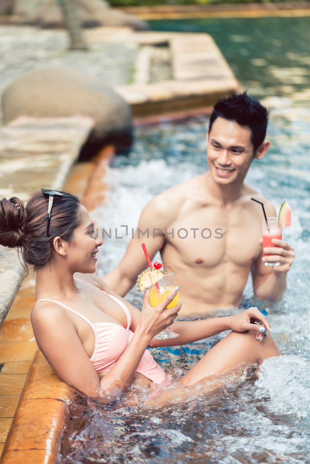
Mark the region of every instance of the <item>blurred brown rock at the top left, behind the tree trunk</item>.
<instances>
[{"instance_id":1,"label":"blurred brown rock at the top left, behind the tree trunk","mask_svg":"<svg viewBox=\"0 0 310 464\"><path fill-rule=\"evenodd\" d=\"M126 26L134 30L148 29L145 21L132 14L111 8L105 0L76 0L83 26ZM15 23L41 27L63 27L62 12L57 0L16 0L13 9Z\"/></svg>"}]
</instances>

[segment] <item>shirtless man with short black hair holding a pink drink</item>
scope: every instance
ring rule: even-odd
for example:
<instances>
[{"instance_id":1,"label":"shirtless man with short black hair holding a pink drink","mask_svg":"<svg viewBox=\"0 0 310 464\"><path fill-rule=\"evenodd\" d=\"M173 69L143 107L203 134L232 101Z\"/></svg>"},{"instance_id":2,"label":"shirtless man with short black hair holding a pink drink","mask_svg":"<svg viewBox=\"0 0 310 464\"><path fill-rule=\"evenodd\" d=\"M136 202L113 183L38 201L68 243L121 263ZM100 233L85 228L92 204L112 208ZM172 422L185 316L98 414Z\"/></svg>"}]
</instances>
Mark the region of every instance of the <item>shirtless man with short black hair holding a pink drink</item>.
<instances>
[{"instance_id":1,"label":"shirtless man with short black hair holding a pink drink","mask_svg":"<svg viewBox=\"0 0 310 464\"><path fill-rule=\"evenodd\" d=\"M103 277L113 290L124 296L147 267L141 247L145 242L151 260L160 251L163 263L171 265L180 288L180 316L237 307L250 271L258 298L281 298L294 249L273 239L277 247L265 251L273 255L269 261L281 265L264 266L263 212L251 198L264 203L267 216L277 213L244 182L253 159L262 159L270 148L264 140L267 123L266 108L246 92L214 106L207 134L210 170L160 193L145 206L124 258ZM149 229L149 238L139 229Z\"/></svg>"}]
</instances>

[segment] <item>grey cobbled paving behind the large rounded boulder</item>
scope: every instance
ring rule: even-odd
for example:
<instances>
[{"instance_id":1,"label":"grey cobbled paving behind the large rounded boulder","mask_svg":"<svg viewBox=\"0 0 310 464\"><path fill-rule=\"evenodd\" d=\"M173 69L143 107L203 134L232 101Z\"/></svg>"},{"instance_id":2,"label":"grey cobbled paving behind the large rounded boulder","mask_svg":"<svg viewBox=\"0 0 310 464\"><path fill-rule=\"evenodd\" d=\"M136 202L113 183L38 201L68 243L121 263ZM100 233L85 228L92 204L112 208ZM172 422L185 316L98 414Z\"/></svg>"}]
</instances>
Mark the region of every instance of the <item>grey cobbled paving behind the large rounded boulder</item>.
<instances>
[{"instance_id":1,"label":"grey cobbled paving behind the large rounded boulder","mask_svg":"<svg viewBox=\"0 0 310 464\"><path fill-rule=\"evenodd\" d=\"M69 52L65 31L30 26L0 26L0 94L26 72L50 65L65 65L105 84L132 80L137 45L96 43L88 52Z\"/></svg>"}]
</instances>

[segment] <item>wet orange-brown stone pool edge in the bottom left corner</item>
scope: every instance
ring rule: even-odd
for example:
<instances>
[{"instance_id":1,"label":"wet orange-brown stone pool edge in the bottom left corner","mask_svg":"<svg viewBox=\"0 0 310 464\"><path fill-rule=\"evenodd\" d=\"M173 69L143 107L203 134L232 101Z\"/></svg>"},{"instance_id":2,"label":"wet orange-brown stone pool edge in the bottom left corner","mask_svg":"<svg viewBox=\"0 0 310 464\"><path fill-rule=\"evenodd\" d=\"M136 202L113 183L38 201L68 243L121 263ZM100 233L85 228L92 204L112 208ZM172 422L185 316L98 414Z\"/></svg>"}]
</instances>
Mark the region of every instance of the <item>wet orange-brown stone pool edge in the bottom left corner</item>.
<instances>
[{"instance_id":1,"label":"wet orange-brown stone pool edge in the bottom left corner","mask_svg":"<svg viewBox=\"0 0 310 464\"><path fill-rule=\"evenodd\" d=\"M26 377L2 452L1 464L58 462L73 387L54 373L38 349Z\"/></svg>"}]
</instances>

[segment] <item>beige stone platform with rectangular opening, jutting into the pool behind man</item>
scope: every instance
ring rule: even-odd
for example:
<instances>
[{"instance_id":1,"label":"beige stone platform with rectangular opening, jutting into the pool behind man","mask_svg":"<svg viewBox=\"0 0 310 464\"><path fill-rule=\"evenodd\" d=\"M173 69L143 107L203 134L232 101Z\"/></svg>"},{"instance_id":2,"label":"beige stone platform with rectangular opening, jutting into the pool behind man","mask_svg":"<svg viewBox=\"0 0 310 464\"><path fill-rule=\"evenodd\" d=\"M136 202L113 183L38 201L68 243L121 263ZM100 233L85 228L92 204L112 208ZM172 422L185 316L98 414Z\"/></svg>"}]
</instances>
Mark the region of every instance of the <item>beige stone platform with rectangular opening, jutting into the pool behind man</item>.
<instances>
[{"instance_id":1,"label":"beige stone platform with rectangular opening, jutting into the pool behind man","mask_svg":"<svg viewBox=\"0 0 310 464\"><path fill-rule=\"evenodd\" d=\"M212 106L221 97L241 90L240 84L209 34L191 32L132 32L126 28L98 27L86 31L88 43L139 44L137 82L114 89L132 106L135 117ZM141 84L150 74L144 47L166 45L172 53L173 79Z\"/></svg>"}]
</instances>

